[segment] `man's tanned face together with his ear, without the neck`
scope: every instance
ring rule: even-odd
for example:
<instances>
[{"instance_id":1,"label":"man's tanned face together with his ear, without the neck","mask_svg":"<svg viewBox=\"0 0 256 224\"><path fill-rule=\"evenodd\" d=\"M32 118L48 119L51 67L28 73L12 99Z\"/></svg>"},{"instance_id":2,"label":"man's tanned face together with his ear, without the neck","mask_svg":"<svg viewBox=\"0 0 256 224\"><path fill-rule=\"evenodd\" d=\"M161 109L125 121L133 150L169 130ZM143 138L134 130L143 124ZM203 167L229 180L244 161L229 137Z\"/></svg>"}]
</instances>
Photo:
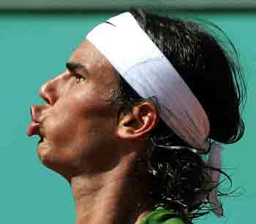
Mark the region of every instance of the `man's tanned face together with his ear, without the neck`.
<instances>
[{"instance_id":1,"label":"man's tanned face together with his ear, without the neck","mask_svg":"<svg viewBox=\"0 0 256 224\"><path fill-rule=\"evenodd\" d=\"M144 102L119 115L116 69L88 40L72 53L67 69L45 82L39 94L48 103L32 107L40 123L42 163L66 177L105 171L122 156L146 150L146 134L157 125L157 109ZM129 146L129 147L126 147Z\"/></svg>"}]
</instances>

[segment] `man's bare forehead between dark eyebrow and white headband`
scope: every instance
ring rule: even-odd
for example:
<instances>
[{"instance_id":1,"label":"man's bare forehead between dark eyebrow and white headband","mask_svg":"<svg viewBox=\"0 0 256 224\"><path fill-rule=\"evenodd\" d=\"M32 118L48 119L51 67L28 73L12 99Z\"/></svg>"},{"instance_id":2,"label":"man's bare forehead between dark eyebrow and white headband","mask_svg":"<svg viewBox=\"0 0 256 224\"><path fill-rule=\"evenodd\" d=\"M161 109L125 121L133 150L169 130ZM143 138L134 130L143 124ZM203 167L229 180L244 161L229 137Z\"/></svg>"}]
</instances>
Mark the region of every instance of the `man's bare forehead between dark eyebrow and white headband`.
<instances>
[{"instance_id":1,"label":"man's bare forehead between dark eyebrow and white headband","mask_svg":"<svg viewBox=\"0 0 256 224\"><path fill-rule=\"evenodd\" d=\"M86 39L78 46L74 53L72 53L69 61L81 63L94 79L100 79L102 81L116 80L116 69L114 69L108 59Z\"/></svg>"}]
</instances>

